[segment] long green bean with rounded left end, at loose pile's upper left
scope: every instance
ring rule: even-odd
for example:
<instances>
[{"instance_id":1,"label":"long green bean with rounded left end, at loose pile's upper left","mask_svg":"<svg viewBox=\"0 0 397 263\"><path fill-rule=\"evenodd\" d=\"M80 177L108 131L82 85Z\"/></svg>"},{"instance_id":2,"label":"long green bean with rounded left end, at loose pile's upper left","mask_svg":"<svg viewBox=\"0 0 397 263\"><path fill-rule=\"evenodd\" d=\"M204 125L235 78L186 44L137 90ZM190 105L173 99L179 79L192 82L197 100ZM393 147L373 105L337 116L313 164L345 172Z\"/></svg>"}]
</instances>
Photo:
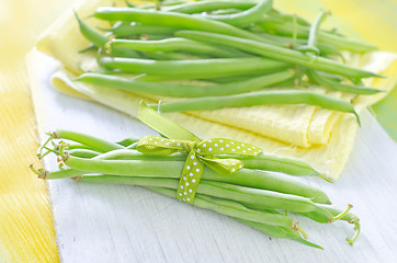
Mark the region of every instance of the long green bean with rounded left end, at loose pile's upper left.
<instances>
[{"instance_id":1,"label":"long green bean with rounded left end, at loose pile's upper left","mask_svg":"<svg viewBox=\"0 0 397 263\"><path fill-rule=\"evenodd\" d=\"M147 25L183 27L186 30L214 32L265 42L264 38L232 25L183 13L163 11L152 12L149 10L132 8L99 8L97 9L94 16L106 21L135 21Z\"/></svg>"}]
</instances>

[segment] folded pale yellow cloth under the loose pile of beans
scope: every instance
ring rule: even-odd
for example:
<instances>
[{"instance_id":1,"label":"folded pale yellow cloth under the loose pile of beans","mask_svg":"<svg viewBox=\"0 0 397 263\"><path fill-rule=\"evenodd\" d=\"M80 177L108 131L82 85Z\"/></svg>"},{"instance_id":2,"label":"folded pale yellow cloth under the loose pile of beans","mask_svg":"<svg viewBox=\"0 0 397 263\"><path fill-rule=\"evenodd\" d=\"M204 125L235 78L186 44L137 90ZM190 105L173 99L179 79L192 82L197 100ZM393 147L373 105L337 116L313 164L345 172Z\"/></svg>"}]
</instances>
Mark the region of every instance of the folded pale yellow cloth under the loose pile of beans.
<instances>
[{"instance_id":1,"label":"folded pale yellow cloth under the loose pile of beans","mask_svg":"<svg viewBox=\"0 0 397 263\"><path fill-rule=\"evenodd\" d=\"M124 5L124 1L89 0L76 11L81 18L89 16L100 5ZM86 20L91 26L104 26L95 19ZM45 32L37 49L59 60L63 68L52 79L53 85L64 93L90 98L107 106L136 116L140 99L156 103L174 100L143 95L91 84L70 81L82 72L82 68L94 64L90 54L78 50L89 45L80 34L72 13L67 13ZM392 90L397 81L397 56L375 52L365 55L345 54L347 62L377 73L387 79L366 79L366 84ZM347 100L351 94L330 92L321 87L309 87L317 92L328 93ZM360 112L381 100L386 93L360 96L355 107ZM202 137L228 137L260 146L264 151L296 157L311 163L320 172L336 180L351 152L356 121L352 114L342 114L310 105L270 105L246 108L167 114Z\"/></svg>"}]
</instances>

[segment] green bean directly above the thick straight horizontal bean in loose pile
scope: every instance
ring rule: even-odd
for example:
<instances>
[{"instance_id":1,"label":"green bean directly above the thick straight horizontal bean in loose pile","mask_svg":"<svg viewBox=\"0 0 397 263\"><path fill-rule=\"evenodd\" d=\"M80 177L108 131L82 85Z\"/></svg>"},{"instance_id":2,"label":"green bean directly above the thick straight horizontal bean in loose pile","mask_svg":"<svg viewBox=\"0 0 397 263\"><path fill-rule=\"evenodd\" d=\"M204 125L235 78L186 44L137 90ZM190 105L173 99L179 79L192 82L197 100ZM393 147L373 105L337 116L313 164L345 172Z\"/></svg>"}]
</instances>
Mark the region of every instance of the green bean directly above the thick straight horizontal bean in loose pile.
<instances>
[{"instance_id":1,"label":"green bean directly above the thick straight horizontal bean in loose pile","mask_svg":"<svg viewBox=\"0 0 397 263\"><path fill-rule=\"evenodd\" d=\"M112 48L123 47L139 52L188 52L190 54L211 55L225 58L248 56L248 54L237 49L219 48L182 37L172 37L161 41L112 39L107 46L110 53L112 52Z\"/></svg>"}]
</instances>

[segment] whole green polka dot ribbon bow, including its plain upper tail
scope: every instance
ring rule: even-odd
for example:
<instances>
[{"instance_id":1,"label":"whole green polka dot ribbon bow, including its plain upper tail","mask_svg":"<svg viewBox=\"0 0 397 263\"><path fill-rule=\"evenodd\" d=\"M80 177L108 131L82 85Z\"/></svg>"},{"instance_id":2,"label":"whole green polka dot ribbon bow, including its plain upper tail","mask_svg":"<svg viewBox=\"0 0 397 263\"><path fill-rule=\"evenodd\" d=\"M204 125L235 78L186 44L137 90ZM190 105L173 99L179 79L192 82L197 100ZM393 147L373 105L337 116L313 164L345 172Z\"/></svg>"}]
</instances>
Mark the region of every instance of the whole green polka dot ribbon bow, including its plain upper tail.
<instances>
[{"instance_id":1,"label":"whole green polka dot ribbon bow, including its plain upper tail","mask_svg":"<svg viewBox=\"0 0 397 263\"><path fill-rule=\"evenodd\" d=\"M181 126L170 122L141 102L138 119L165 137L146 136L137 145L144 155L169 156L188 152L188 158L179 181L177 199L194 204L204 165L219 174L228 175L242 169L243 163L237 159L218 159L214 155L238 155L254 157L261 149L237 140L213 138L201 140Z\"/></svg>"}]
</instances>

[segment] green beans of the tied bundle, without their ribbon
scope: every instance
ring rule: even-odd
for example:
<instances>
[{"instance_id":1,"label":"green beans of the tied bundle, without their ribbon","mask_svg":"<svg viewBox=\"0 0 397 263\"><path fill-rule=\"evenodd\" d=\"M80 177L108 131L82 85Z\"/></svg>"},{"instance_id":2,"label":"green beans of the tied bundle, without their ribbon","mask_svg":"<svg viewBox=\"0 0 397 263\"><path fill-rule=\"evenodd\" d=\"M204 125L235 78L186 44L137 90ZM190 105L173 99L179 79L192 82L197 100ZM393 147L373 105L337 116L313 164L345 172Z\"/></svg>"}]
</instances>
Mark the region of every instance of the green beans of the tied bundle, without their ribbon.
<instances>
[{"instance_id":1,"label":"green beans of the tied bundle, without their ribbon","mask_svg":"<svg viewBox=\"0 0 397 263\"><path fill-rule=\"evenodd\" d=\"M136 150L139 138L111 142L70 130L56 130L48 135L37 156L42 159L48 153L55 153L59 169L36 170L31 165L32 171L42 179L72 178L88 183L131 184L173 198L177 196L185 153L144 155ZM220 155L216 157L230 158ZM297 240L318 249L322 248L306 240L306 232L292 214L321 224L344 220L354 226L354 236L347 239L353 244L360 232L360 221L349 211L351 205L345 210L332 208L322 191L277 174L322 176L309 164L265 153L232 158L242 161L245 168L229 175L220 175L205 168L194 206L230 216L272 237Z\"/></svg>"}]
</instances>

